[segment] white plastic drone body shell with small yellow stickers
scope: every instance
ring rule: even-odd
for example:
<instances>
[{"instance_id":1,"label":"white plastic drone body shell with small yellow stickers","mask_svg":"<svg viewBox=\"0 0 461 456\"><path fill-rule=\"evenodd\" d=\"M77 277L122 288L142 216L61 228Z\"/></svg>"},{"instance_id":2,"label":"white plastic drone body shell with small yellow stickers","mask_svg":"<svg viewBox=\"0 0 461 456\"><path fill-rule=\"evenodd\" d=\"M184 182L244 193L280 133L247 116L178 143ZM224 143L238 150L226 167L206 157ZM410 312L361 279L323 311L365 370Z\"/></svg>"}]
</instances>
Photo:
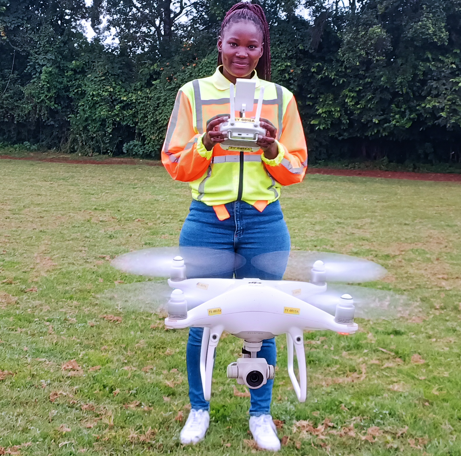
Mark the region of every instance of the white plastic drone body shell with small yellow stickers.
<instances>
[{"instance_id":1,"label":"white plastic drone body shell with small yellow stickers","mask_svg":"<svg viewBox=\"0 0 461 456\"><path fill-rule=\"evenodd\" d=\"M355 323L338 323L338 319L326 310L309 304L309 295L324 291L326 285L259 279L188 279L179 283L169 281L169 284L176 290L173 295L176 299L170 302L176 305L178 296L183 294L184 306L190 310L186 318L174 318L174 314L168 317L167 327L222 325L225 331L249 342L284 334L292 326L348 334L357 330ZM215 296L209 299L204 296L203 303L191 308L189 302L186 304L190 288L199 288ZM312 290L310 294L308 289ZM260 338L262 335L268 337Z\"/></svg>"}]
</instances>

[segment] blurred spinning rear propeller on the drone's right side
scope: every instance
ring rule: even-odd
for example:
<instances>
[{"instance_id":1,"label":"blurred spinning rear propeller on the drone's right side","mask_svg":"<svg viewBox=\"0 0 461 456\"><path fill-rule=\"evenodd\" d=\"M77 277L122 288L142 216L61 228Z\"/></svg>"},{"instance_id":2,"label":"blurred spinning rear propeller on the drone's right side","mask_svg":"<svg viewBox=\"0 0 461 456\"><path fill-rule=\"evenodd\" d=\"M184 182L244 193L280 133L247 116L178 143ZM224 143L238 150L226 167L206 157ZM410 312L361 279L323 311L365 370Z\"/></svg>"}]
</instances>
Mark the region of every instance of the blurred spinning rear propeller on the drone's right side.
<instances>
[{"instance_id":1,"label":"blurred spinning rear propeller on the drone's right side","mask_svg":"<svg viewBox=\"0 0 461 456\"><path fill-rule=\"evenodd\" d=\"M282 258L286 252L270 252L258 255L251 260L253 266L265 272L276 274ZM378 280L386 274L386 270L372 261L356 258L349 255L323 252L304 252L292 250L288 258L288 265L283 276L286 280L309 282L312 267L321 261L325 267L326 282L363 283Z\"/></svg>"}]
</instances>

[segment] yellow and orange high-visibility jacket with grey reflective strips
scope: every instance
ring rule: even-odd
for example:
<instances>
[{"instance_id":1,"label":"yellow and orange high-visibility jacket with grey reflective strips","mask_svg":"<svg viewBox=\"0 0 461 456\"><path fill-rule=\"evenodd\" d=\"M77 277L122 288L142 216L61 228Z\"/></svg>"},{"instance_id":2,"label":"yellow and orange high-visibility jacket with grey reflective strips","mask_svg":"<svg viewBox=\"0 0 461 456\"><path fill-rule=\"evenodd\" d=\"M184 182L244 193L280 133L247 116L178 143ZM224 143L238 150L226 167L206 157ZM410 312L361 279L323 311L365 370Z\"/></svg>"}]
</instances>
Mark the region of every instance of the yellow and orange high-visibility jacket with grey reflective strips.
<instances>
[{"instance_id":1,"label":"yellow and orange high-visibility jacket with grey reflective strips","mask_svg":"<svg viewBox=\"0 0 461 456\"><path fill-rule=\"evenodd\" d=\"M179 90L162 149L162 163L171 177L189 182L192 198L213 206L221 220L227 218L224 205L237 200L262 212L280 197L282 186L301 182L307 170L306 140L293 94L259 79L256 72L252 79L256 99L264 87L261 118L277 128L278 155L273 160L261 149L239 152L216 144L208 151L203 145L207 122L230 112L230 82L220 68Z\"/></svg>"}]
</instances>

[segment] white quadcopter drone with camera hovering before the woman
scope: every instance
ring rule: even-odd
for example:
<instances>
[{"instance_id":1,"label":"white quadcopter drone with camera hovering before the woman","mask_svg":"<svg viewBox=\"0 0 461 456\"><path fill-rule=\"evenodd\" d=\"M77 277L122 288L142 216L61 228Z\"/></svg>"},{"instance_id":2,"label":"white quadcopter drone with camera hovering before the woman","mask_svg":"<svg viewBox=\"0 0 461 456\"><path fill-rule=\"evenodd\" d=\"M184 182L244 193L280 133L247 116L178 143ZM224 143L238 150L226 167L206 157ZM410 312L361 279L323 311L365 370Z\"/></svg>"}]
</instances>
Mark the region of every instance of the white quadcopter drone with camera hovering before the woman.
<instances>
[{"instance_id":1,"label":"white quadcopter drone with camera hovering before the woman","mask_svg":"<svg viewBox=\"0 0 461 456\"><path fill-rule=\"evenodd\" d=\"M349 282L376 280L385 273L384 268L371 261L355 260L355 272L348 275L346 269L350 268L350 264L347 262L341 264L335 260L324 263L316 260L310 270L310 282L257 278L187 279L189 264L195 263L191 270L203 266L204 258L210 256L208 251L212 253L211 257L214 255L213 263L216 266L234 267L236 264L233 257L221 256L236 254L216 254L218 251L193 248L188 251L181 248L182 256L176 256L173 260L170 257L168 261L164 254L158 254L159 250L147 249L122 255L113 264L126 272L151 276L165 275L169 269L168 285L173 291L168 301L165 325L174 329L204 328L200 373L206 400L210 400L211 396L215 351L221 334L227 331L244 340L243 357L229 364L227 376L237 379L237 383L250 389L260 388L267 380L274 378L274 366L268 365L263 358L257 358L262 341L286 334L288 374L298 400L304 402L307 395L307 370L303 331L331 330L338 334L354 334L358 329L354 323L354 300L349 294L332 299L327 294L327 279L339 278ZM286 254L275 252L277 253ZM161 256L164 258L160 258ZM271 272L270 265L276 263L271 261L274 258L273 254L260 255L255 257L256 261L252 260L252 264L260 269L267 265L266 270ZM294 370L294 352L299 380Z\"/></svg>"}]
</instances>

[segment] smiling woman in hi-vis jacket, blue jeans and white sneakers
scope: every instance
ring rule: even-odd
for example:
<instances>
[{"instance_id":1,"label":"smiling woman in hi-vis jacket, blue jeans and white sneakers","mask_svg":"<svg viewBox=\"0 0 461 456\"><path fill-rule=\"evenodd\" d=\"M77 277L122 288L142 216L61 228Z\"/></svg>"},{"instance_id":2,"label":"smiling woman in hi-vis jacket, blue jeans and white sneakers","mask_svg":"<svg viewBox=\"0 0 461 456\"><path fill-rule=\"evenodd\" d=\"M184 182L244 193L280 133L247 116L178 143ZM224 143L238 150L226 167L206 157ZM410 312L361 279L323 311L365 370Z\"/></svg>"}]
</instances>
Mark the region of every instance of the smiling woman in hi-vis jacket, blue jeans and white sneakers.
<instances>
[{"instance_id":1,"label":"smiling woman in hi-vis jacket, blue jeans and white sneakers","mask_svg":"<svg viewBox=\"0 0 461 456\"><path fill-rule=\"evenodd\" d=\"M180 246L242 255L246 264L234 271L236 278L281 279L290 237L278 201L280 189L301 182L307 169L307 147L296 101L287 89L269 82L269 28L259 5L234 5L222 22L217 46L215 74L179 90L162 150L169 174L189 182L192 190ZM229 118L229 85L237 78L254 80L256 97L264 87L261 126L266 135L258 138L258 152L229 151L220 146L225 136L219 126ZM272 251L287 252L277 275L264 273L251 262L253 257ZM220 277L232 277L232 273ZM202 328L191 328L189 333L191 413L181 431L183 444L201 441L209 425L209 403L203 396L199 367L202 332ZM263 342L258 356L275 365L274 339ZM269 380L251 390L250 430L260 448L278 451L280 441L270 415L272 386L273 380Z\"/></svg>"}]
</instances>

